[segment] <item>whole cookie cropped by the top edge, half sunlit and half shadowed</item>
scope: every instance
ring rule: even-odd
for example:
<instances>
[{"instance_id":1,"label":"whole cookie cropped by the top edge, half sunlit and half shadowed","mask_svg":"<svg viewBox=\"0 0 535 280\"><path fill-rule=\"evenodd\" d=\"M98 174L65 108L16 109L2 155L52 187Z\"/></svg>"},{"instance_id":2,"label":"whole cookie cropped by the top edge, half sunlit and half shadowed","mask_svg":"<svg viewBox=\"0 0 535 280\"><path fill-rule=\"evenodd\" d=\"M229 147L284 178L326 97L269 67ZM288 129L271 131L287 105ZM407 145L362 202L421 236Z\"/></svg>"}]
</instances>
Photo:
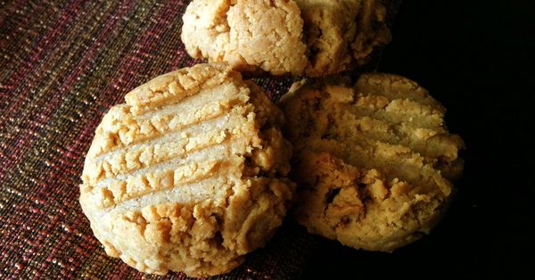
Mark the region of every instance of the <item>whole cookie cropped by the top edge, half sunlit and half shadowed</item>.
<instances>
[{"instance_id":1,"label":"whole cookie cropped by the top edge, half sunlit and half shadowed","mask_svg":"<svg viewBox=\"0 0 535 280\"><path fill-rule=\"evenodd\" d=\"M379 0L193 0L181 37L235 70L319 77L369 62L391 39L385 17Z\"/></svg>"}]
</instances>

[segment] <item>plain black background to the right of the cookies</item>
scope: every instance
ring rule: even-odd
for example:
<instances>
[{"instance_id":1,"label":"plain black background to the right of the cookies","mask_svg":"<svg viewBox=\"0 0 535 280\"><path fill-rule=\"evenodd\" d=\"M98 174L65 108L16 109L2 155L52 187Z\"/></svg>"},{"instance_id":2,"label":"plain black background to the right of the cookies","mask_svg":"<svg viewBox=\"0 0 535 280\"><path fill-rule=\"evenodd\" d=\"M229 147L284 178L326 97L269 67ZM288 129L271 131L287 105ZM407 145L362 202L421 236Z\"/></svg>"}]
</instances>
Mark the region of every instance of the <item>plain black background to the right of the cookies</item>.
<instances>
[{"instance_id":1,"label":"plain black background to the right of the cookies","mask_svg":"<svg viewBox=\"0 0 535 280\"><path fill-rule=\"evenodd\" d=\"M318 238L302 278L531 278L535 3L403 1L379 70L416 80L465 139L465 175L431 235L393 253Z\"/></svg>"}]
</instances>

